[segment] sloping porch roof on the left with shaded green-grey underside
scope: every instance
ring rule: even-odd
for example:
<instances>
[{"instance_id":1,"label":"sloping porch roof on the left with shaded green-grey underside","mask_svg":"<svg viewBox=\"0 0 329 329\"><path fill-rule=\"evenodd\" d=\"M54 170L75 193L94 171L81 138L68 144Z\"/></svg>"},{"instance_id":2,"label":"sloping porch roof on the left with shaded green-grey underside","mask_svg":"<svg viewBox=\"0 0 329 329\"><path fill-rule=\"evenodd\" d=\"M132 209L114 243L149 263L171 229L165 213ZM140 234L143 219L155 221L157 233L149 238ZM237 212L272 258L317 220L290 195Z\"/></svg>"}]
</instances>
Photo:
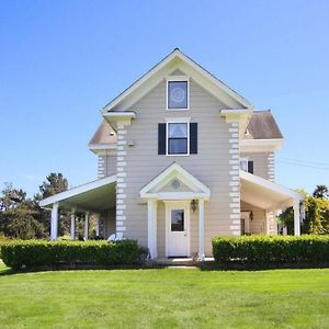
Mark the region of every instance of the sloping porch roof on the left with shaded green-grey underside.
<instances>
[{"instance_id":1,"label":"sloping porch roof on the left with shaded green-grey underside","mask_svg":"<svg viewBox=\"0 0 329 329\"><path fill-rule=\"evenodd\" d=\"M115 206L116 175L105 177L68 191L52 195L39 202L45 208L59 203L61 208L102 212Z\"/></svg>"}]
</instances>

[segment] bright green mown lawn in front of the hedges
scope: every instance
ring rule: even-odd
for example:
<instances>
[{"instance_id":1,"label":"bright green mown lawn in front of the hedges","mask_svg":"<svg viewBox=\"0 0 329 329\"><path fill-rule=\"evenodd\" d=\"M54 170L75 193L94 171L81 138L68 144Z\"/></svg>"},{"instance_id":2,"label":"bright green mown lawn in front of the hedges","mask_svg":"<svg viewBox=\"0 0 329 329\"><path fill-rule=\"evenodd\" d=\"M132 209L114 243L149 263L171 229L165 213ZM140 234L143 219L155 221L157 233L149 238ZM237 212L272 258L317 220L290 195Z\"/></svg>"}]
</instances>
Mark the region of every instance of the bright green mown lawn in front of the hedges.
<instances>
[{"instance_id":1,"label":"bright green mown lawn in front of the hedges","mask_svg":"<svg viewBox=\"0 0 329 329\"><path fill-rule=\"evenodd\" d=\"M1 328L329 328L329 270L9 274Z\"/></svg>"}]
</instances>

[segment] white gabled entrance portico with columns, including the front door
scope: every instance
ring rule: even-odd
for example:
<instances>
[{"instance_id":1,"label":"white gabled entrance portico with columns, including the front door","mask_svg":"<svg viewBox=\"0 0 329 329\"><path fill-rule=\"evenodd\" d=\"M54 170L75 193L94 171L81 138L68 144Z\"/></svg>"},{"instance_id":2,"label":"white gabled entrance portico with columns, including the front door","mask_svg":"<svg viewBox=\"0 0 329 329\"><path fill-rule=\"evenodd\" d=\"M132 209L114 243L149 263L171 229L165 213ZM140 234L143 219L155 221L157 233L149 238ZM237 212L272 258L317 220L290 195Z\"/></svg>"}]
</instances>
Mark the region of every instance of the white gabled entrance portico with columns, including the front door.
<instances>
[{"instance_id":1,"label":"white gabled entrance portico with columns, including the front door","mask_svg":"<svg viewBox=\"0 0 329 329\"><path fill-rule=\"evenodd\" d=\"M209 189L195 177L172 163L140 190L147 202L148 248L150 258L158 258L158 204L164 204L164 256L191 257L191 212L198 217L198 259L204 260L204 204Z\"/></svg>"}]
</instances>

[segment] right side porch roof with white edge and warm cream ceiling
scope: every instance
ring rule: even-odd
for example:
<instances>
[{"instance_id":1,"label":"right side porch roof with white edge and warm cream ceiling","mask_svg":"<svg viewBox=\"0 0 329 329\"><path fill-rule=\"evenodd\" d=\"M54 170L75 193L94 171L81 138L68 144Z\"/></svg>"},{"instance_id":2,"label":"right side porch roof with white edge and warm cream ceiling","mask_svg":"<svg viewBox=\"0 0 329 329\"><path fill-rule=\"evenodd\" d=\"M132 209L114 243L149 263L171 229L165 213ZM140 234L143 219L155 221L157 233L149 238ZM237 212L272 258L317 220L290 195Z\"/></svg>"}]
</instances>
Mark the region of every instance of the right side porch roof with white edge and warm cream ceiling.
<instances>
[{"instance_id":1,"label":"right side porch roof with white edge and warm cream ceiling","mask_svg":"<svg viewBox=\"0 0 329 329\"><path fill-rule=\"evenodd\" d=\"M241 200L257 207L270 211L292 206L294 200L303 200L297 192L272 183L260 177L240 171Z\"/></svg>"}]
</instances>

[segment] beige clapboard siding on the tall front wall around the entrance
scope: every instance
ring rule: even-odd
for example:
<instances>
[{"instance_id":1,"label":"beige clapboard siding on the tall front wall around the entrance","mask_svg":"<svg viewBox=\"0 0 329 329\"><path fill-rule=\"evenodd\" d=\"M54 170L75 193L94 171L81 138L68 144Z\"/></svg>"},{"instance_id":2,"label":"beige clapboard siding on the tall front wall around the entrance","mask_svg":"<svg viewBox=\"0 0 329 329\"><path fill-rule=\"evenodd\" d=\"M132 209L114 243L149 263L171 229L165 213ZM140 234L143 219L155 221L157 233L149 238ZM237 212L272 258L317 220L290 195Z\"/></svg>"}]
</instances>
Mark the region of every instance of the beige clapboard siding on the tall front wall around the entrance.
<instances>
[{"instance_id":1,"label":"beige clapboard siding on the tall front wall around the entrance","mask_svg":"<svg viewBox=\"0 0 329 329\"><path fill-rule=\"evenodd\" d=\"M134 140L135 146L124 145L125 157L124 195L125 201L121 216L124 216L125 236L137 239L147 246L147 205L139 197L139 190L157 177L172 162L177 162L211 189L211 201L205 203L205 241L206 254L212 253L211 239L216 235L232 234L230 217L231 197L230 181L230 137L227 124L219 116L220 109L227 106L220 103L193 80L190 89L190 111L166 111L166 81L151 90L131 110L136 111L137 118L125 127L126 140ZM164 123L166 117L191 117L198 123L198 154L189 157L158 155L158 123ZM237 188L238 189L238 188ZM237 191L239 195L239 191ZM239 203L238 203L239 207ZM164 207L163 207L164 209ZM163 249L162 229L164 211L158 209L158 243ZM194 216L194 215L193 215ZM196 216L196 215L195 215ZM197 220L191 220L191 252L197 245ZM164 231L164 230L163 230ZM161 247L162 246L162 247ZM159 254L161 254L159 250Z\"/></svg>"}]
</instances>

